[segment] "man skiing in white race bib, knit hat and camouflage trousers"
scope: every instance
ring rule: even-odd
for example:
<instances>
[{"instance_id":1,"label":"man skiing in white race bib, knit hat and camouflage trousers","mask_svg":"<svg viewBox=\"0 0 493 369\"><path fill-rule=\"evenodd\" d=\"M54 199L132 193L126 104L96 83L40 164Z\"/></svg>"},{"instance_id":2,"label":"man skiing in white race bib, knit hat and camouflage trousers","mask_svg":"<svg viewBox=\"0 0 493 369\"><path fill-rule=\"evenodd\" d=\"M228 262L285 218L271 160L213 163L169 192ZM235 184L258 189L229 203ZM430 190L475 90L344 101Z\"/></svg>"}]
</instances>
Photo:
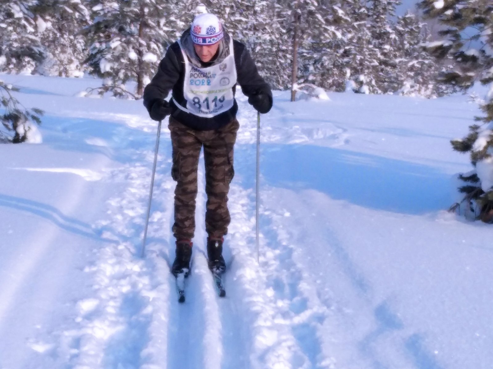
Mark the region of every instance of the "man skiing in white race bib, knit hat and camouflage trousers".
<instances>
[{"instance_id":1,"label":"man skiing in white race bib, knit hat and camouflage trousers","mask_svg":"<svg viewBox=\"0 0 493 369\"><path fill-rule=\"evenodd\" d=\"M233 146L239 123L236 84L260 113L272 107L272 92L260 77L243 43L233 40L213 14L195 17L191 27L172 44L144 90L151 119L170 116L172 177L176 181L176 258L172 273L188 276L195 231L197 169L204 148L206 171L207 255L212 273L226 265L222 256L230 215L229 184L234 176ZM172 91L170 102L164 100Z\"/></svg>"}]
</instances>

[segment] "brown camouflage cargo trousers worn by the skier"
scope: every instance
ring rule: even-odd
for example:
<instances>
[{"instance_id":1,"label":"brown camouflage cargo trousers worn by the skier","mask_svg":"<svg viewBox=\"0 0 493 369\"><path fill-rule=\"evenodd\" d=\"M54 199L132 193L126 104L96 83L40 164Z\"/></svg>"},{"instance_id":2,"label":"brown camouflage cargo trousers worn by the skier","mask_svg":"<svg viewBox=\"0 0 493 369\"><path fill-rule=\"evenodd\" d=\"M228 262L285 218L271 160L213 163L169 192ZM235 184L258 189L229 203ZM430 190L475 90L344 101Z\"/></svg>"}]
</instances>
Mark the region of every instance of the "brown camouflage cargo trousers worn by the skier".
<instances>
[{"instance_id":1,"label":"brown camouflage cargo trousers worn by the skier","mask_svg":"<svg viewBox=\"0 0 493 369\"><path fill-rule=\"evenodd\" d=\"M229 184L234 176L233 147L239 123L235 119L217 130L197 131L170 117L168 127L173 146L172 177L176 181L176 240L191 240L195 232L195 199L199 155L204 148L206 171L206 231L220 239L228 232Z\"/></svg>"}]
</instances>

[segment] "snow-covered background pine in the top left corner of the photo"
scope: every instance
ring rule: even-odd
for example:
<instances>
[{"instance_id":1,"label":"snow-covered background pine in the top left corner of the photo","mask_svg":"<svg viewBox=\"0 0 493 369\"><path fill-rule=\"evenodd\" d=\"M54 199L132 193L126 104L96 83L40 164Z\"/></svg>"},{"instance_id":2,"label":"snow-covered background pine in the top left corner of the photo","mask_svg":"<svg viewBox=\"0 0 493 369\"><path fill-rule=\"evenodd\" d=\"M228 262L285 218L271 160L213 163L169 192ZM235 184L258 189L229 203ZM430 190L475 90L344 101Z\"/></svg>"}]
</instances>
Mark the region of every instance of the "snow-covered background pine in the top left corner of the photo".
<instances>
[{"instance_id":1,"label":"snow-covered background pine in the top left corner of the photo","mask_svg":"<svg viewBox=\"0 0 493 369\"><path fill-rule=\"evenodd\" d=\"M0 0L0 71L31 73L44 59L32 8L35 0Z\"/></svg>"}]
</instances>

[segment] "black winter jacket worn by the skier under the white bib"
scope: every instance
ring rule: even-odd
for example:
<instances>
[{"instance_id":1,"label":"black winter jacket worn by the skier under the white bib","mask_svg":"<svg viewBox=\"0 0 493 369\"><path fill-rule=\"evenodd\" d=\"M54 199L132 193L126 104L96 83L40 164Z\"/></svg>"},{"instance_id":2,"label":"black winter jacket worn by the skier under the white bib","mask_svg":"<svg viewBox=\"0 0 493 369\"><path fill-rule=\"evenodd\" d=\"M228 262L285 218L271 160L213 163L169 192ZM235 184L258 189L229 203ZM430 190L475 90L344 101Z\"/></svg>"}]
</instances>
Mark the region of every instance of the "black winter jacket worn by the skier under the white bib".
<instances>
[{"instance_id":1,"label":"black winter jacket worn by the skier under the white bib","mask_svg":"<svg viewBox=\"0 0 493 369\"><path fill-rule=\"evenodd\" d=\"M187 32L185 31L182 35L181 40L187 37ZM225 37L223 42L225 45L229 44L225 41L229 37ZM182 41L183 44L183 41ZM226 46L228 47L228 46ZM246 96L251 96L255 94L266 94L270 98L270 103L272 106L272 92L269 85L263 80L258 74L257 67L250 57L248 50L243 43L233 40L233 52L236 64L237 73L237 83L242 87L243 93ZM190 59L190 58L189 58ZM197 61L191 61L197 62ZM201 63L202 67L211 66L214 63L221 62L220 59L216 59L210 63ZM156 101L162 101L168 93L172 91L173 99L176 100L182 106L186 106L186 100L183 97L183 82L185 78L185 62L183 60L183 54L181 53L180 46L178 42L172 44L164 57L164 59L159 63L159 68L156 75L152 78L152 81L145 87L144 90L144 106L147 111L150 112L152 104ZM233 88L233 93L235 93L235 87ZM238 104L236 100L234 105L228 111L225 111L219 115L212 118L197 117L193 114L182 111L177 108L175 101L171 100L170 106L172 108L172 117L178 122L196 130L211 130L218 129L223 125L231 122L236 118L236 113L238 111Z\"/></svg>"}]
</instances>

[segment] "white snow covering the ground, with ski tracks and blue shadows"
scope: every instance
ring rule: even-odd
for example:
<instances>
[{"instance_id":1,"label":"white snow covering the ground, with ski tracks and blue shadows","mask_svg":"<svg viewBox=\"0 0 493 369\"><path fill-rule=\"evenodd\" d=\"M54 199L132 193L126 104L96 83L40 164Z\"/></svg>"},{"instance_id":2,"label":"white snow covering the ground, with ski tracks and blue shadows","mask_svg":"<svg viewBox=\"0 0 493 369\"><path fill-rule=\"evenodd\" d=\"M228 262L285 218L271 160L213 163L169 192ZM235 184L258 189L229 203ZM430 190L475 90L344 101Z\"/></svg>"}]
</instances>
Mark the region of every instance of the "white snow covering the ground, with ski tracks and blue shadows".
<instances>
[{"instance_id":1,"label":"white snow covering the ground, with ski tracks and blue shadows","mask_svg":"<svg viewBox=\"0 0 493 369\"><path fill-rule=\"evenodd\" d=\"M178 304L166 123L141 259L157 132L142 102L76 97L93 78L0 79L45 111L42 143L0 146L0 368L490 367L491 225L445 211L471 170L449 142L481 114L467 96L274 92L257 265L256 113L237 91L227 296L207 269L201 158Z\"/></svg>"}]
</instances>

